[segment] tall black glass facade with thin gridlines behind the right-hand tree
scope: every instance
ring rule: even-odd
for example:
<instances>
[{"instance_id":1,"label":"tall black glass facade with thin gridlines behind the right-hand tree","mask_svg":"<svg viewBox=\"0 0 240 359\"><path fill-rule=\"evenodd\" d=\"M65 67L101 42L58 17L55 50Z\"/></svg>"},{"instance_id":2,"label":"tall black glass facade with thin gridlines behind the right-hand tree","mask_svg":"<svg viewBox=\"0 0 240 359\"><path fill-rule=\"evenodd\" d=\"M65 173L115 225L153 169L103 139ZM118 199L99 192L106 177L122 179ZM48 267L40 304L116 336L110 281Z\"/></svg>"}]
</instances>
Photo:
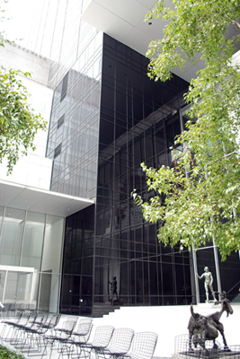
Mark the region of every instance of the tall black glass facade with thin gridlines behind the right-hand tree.
<instances>
[{"instance_id":1,"label":"tall black glass facade with thin gridlines behind the right-hand tree","mask_svg":"<svg viewBox=\"0 0 240 359\"><path fill-rule=\"evenodd\" d=\"M188 83L147 77L147 59L103 35L96 203L67 218L60 311L91 315L97 303L195 301L191 255L164 248L130 196L147 194L140 163L172 164ZM112 278L117 295L112 296Z\"/></svg>"}]
</instances>

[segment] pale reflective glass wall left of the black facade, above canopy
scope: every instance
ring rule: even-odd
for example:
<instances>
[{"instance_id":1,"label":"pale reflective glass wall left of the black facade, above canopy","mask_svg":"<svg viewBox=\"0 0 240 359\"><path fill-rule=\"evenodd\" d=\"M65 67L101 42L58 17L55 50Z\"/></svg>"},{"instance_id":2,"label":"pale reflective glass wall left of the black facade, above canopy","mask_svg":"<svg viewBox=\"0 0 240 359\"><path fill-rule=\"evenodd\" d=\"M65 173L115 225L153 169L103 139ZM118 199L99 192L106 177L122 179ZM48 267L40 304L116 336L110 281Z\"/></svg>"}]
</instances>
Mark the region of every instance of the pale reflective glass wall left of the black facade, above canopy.
<instances>
[{"instance_id":1,"label":"pale reflective glass wall left of the black facade, above canopy","mask_svg":"<svg viewBox=\"0 0 240 359\"><path fill-rule=\"evenodd\" d=\"M55 92L47 156L53 160L51 190L95 198L102 32L81 22L82 3L59 2L64 16L61 23L56 19L61 35L53 42L58 57L49 73Z\"/></svg>"}]
</instances>

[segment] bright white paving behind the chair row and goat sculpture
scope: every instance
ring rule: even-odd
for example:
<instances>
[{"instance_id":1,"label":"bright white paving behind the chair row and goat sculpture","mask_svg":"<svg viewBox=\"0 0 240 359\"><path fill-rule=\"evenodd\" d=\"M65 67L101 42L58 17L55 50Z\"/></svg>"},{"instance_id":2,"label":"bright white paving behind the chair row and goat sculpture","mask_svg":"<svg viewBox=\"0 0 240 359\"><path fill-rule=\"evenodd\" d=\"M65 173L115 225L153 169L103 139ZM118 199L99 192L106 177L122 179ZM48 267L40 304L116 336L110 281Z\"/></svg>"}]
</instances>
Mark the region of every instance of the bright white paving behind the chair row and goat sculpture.
<instances>
[{"instance_id":1,"label":"bright white paving behind the chair row and goat sculpture","mask_svg":"<svg viewBox=\"0 0 240 359\"><path fill-rule=\"evenodd\" d=\"M239 320L240 320L240 305L233 305L234 313L228 318L226 313L222 314L221 322L225 328L227 337L227 344L229 346L240 345L239 337ZM213 306L210 304L201 304L194 306L194 311L202 315L208 315L215 311L220 311L220 306ZM191 312L190 306L161 306L161 307L122 307L103 318L93 319L93 330L90 341L93 339L95 328L100 325L112 325L114 328L132 328L135 332L153 331L158 335L155 356L171 357L174 354L175 338L187 334L188 321ZM58 323L61 327L62 322L66 320L67 316L62 315ZM84 317L79 317L83 319ZM0 333L1 328L0 324ZM223 344L222 338L219 335L218 342ZM25 355L25 357L27 357ZM65 356L67 357L67 356ZM33 359L40 358L40 356L31 356ZM49 359L48 355L44 355L43 359ZM94 355L92 355L94 359ZM52 352L51 359L58 359L57 351Z\"/></svg>"}]
</instances>

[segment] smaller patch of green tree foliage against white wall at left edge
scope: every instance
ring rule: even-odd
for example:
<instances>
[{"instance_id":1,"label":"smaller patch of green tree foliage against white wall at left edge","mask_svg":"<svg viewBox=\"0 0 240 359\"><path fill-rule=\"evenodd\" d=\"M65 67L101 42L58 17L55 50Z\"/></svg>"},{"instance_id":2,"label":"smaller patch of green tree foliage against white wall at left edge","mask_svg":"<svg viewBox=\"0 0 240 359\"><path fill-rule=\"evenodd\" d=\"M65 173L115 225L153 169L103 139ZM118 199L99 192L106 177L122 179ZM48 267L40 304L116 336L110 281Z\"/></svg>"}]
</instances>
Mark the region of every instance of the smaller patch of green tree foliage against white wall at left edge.
<instances>
[{"instance_id":1,"label":"smaller patch of green tree foliage against white wall at left edge","mask_svg":"<svg viewBox=\"0 0 240 359\"><path fill-rule=\"evenodd\" d=\"M4 31L0 32L0 46L4 47ZM47 122L28 104L30 94L22 84L21 75L31 76L20 70L7 71L0 67L0 162L7 159L8 174L13 171L19 153L27 155L29 148L34 151L36 133L47 128Z\"/></svg>"}]
</instances>

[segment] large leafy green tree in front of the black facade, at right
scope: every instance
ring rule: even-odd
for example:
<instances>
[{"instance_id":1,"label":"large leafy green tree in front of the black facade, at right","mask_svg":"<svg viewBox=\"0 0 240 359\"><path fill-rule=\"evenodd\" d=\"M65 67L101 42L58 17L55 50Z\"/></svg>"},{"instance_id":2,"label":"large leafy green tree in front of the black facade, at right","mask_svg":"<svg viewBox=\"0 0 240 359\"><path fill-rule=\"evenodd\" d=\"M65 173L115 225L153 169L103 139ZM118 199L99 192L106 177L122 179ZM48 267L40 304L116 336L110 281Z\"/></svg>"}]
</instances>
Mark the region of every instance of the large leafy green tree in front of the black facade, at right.
<instances>
[{"instance_id":1,"label":"large leafy green tree in front of the black facade, at right","mask_svg":"<svg viewBox=\"0 0 240 359\"><path fill-rule=\"evenodd\" d=\"M240 66L231 62L240 39L239 1L173 0L170 9L158 0L147 21L153 16L167 25L147 51L150 78L166 81L174 66L183 69L196 56L205 66L184 95L188 115L198 120L176 138L182 154L175 154L173 169L142 163L155 195L145 202L135 190L133 197L145 219L159 223L159 241L191 250L214 240L224 260L240 250Z\"/></svg>"}]
</instances>

